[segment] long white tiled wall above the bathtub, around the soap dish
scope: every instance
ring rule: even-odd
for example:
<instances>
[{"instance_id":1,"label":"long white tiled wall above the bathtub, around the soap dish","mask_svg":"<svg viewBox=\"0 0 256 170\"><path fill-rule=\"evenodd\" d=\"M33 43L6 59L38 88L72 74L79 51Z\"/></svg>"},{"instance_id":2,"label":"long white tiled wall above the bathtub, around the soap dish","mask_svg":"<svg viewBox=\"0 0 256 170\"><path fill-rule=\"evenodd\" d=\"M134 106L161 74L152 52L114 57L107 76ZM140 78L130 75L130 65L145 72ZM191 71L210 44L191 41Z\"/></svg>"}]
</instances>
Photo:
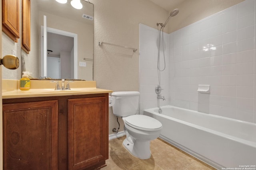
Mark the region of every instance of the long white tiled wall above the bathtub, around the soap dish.
<instances>
[{"instance_id":1,"label":"long white tiled wall above the bathtub, around the soap dish","mask_svg":"<svg viewBox=\"0 0 256 170\"><path fill-rule=\"evenodd\" d=\"M246 0L168 35L170 105L256 123L255 6ZM144 49L140 90L152 84L142 81ZM209 84L210 94L198 93L198 84ZM148 107L140 102L141 110Z\"/></svg>"}]
</instances>

